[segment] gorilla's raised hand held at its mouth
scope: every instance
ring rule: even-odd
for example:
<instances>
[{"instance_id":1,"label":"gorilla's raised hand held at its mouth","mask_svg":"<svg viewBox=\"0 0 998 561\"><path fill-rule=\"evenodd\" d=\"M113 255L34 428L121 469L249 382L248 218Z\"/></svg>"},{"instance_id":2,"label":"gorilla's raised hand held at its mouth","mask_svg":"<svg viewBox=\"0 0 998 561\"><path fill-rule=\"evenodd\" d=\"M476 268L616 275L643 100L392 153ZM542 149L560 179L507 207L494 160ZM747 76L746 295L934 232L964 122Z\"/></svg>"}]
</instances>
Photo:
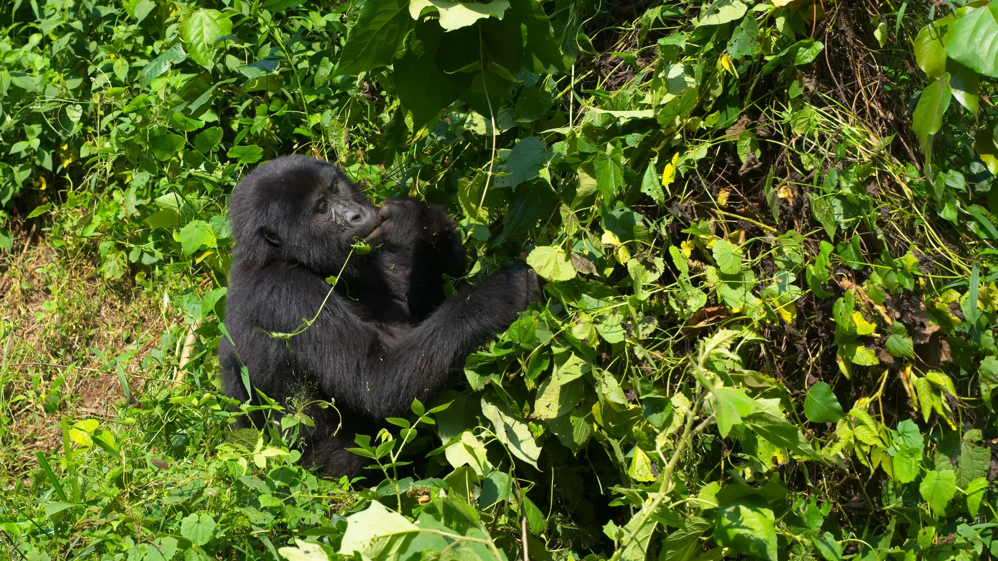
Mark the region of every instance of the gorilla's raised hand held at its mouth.
<instances>
[{"instance_id":1,"label":"gorilla's raised hand held at its mouth","mask_svg":"<svg viewBox=\"0 0 998 561\"><path fill-rule=\"evenodd\" d=\"M390 243L412 248L453 230L454 223L443 209L412 199L388 199L378 211L380 225L369 241L386 238Z\"/></svg>"}]
</instances>

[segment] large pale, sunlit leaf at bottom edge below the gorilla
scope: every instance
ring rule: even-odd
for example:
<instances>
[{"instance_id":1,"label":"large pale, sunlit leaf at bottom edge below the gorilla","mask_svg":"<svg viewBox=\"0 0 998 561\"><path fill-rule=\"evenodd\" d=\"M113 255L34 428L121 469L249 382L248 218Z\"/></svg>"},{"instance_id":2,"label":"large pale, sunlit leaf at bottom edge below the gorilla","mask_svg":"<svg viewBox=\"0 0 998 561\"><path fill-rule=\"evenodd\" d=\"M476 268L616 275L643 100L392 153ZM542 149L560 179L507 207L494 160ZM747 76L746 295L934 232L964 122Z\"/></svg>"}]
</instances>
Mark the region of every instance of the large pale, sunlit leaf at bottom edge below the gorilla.
<instances>
[{"instance_id":1,"label":"large pale, sunlit leaf at bottom edge below the gorilla","mask_svg":"<svg viewBox=\"0 0 998 561\"><path fill-rule=\"evenodd\" d=\"M388 510L378 501L346 517L346 532L339 543L340 554L351 556L359 552L373 559L379 554L398 552L403 542L411 539L419 528L401 514Z\"/></svg>"}]
</instances>

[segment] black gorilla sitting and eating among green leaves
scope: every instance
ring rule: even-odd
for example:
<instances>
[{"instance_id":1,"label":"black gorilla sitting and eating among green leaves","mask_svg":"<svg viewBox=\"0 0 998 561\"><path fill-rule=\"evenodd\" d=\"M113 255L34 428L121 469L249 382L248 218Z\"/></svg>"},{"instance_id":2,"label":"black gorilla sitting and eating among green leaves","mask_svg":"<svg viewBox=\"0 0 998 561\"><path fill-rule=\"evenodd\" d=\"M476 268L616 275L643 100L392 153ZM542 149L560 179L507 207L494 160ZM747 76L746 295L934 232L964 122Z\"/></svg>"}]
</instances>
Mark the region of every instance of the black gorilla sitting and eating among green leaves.
<instances>
[{"instance_id":1,"label":"black gorilla sitting and eating among green leaves","mask_svg":"<svg viewBox=\"0 0 998 561\"><path fill-rule=\"evenodd\" d=\"M315 426L302 451L305 464L329 474L356 474L367 460L344 449L355 433L373 434L384 417L405 416L414 397L432 398L540 296L535 274L513 264L446 298L442 276L463 275L465 260L443 210L406 199L378 209L319 160L260 166L233 192L229 218L236 251L226 326L235 348L225 339L219 347L224 389L250 398L246 365L253 393L285 407L294 397L333 398L342 428L333 436L336 411L310 407ZM347 259L355 239L374 249ZM329 294L325 279L336 275ZM320 308L299 334L271 335L300 330Z\"/></svg>"}]
</instances>

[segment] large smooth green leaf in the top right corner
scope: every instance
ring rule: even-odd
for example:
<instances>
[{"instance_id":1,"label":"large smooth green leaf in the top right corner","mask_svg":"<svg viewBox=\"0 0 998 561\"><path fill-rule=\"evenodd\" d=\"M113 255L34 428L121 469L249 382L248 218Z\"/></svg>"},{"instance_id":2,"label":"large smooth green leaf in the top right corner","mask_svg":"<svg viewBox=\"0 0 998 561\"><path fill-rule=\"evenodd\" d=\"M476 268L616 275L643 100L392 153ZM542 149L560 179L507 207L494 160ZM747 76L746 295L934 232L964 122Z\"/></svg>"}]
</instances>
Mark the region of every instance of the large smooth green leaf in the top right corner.
<instances>
[{"instance_id":1,"label":"large smooth green leaf in the top right corner","mask_svg":"<svg viewBox=\"0 0 998 561\"><path fill-rule=\"evenodd\" d=\"M998 5L968 8L949 26L945 48L951 59L998 78Z\"/></svg>"}]
</instances>

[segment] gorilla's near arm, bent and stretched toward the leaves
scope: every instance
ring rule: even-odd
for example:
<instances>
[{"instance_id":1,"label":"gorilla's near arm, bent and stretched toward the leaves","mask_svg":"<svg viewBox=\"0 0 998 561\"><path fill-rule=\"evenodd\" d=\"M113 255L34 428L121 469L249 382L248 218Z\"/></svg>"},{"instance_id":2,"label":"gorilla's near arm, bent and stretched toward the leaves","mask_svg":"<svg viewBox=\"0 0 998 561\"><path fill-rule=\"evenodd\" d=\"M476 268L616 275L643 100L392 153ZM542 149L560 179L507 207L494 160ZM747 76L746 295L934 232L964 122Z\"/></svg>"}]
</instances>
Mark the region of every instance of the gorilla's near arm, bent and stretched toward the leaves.
<instances>
[{"instance_id":1,"label":"gorilla's near arm, bent and stretched toward the leaves","mask_svg":"<svg viewBox=\"0 0 998 561\"><path fill-rule=\"evenodd\" d=\"M306 299L317 305L318 295ZM340 407L378 418L404 415L413 397L436 394L464 356L539 296L528 268L507 266L462 287L422 322L393 335L363 321L349 300L334 292L319 320L290 339L292 361ZM301 308L303 316L314 314L308 309Z\"/></svg>"}]
</instances>

